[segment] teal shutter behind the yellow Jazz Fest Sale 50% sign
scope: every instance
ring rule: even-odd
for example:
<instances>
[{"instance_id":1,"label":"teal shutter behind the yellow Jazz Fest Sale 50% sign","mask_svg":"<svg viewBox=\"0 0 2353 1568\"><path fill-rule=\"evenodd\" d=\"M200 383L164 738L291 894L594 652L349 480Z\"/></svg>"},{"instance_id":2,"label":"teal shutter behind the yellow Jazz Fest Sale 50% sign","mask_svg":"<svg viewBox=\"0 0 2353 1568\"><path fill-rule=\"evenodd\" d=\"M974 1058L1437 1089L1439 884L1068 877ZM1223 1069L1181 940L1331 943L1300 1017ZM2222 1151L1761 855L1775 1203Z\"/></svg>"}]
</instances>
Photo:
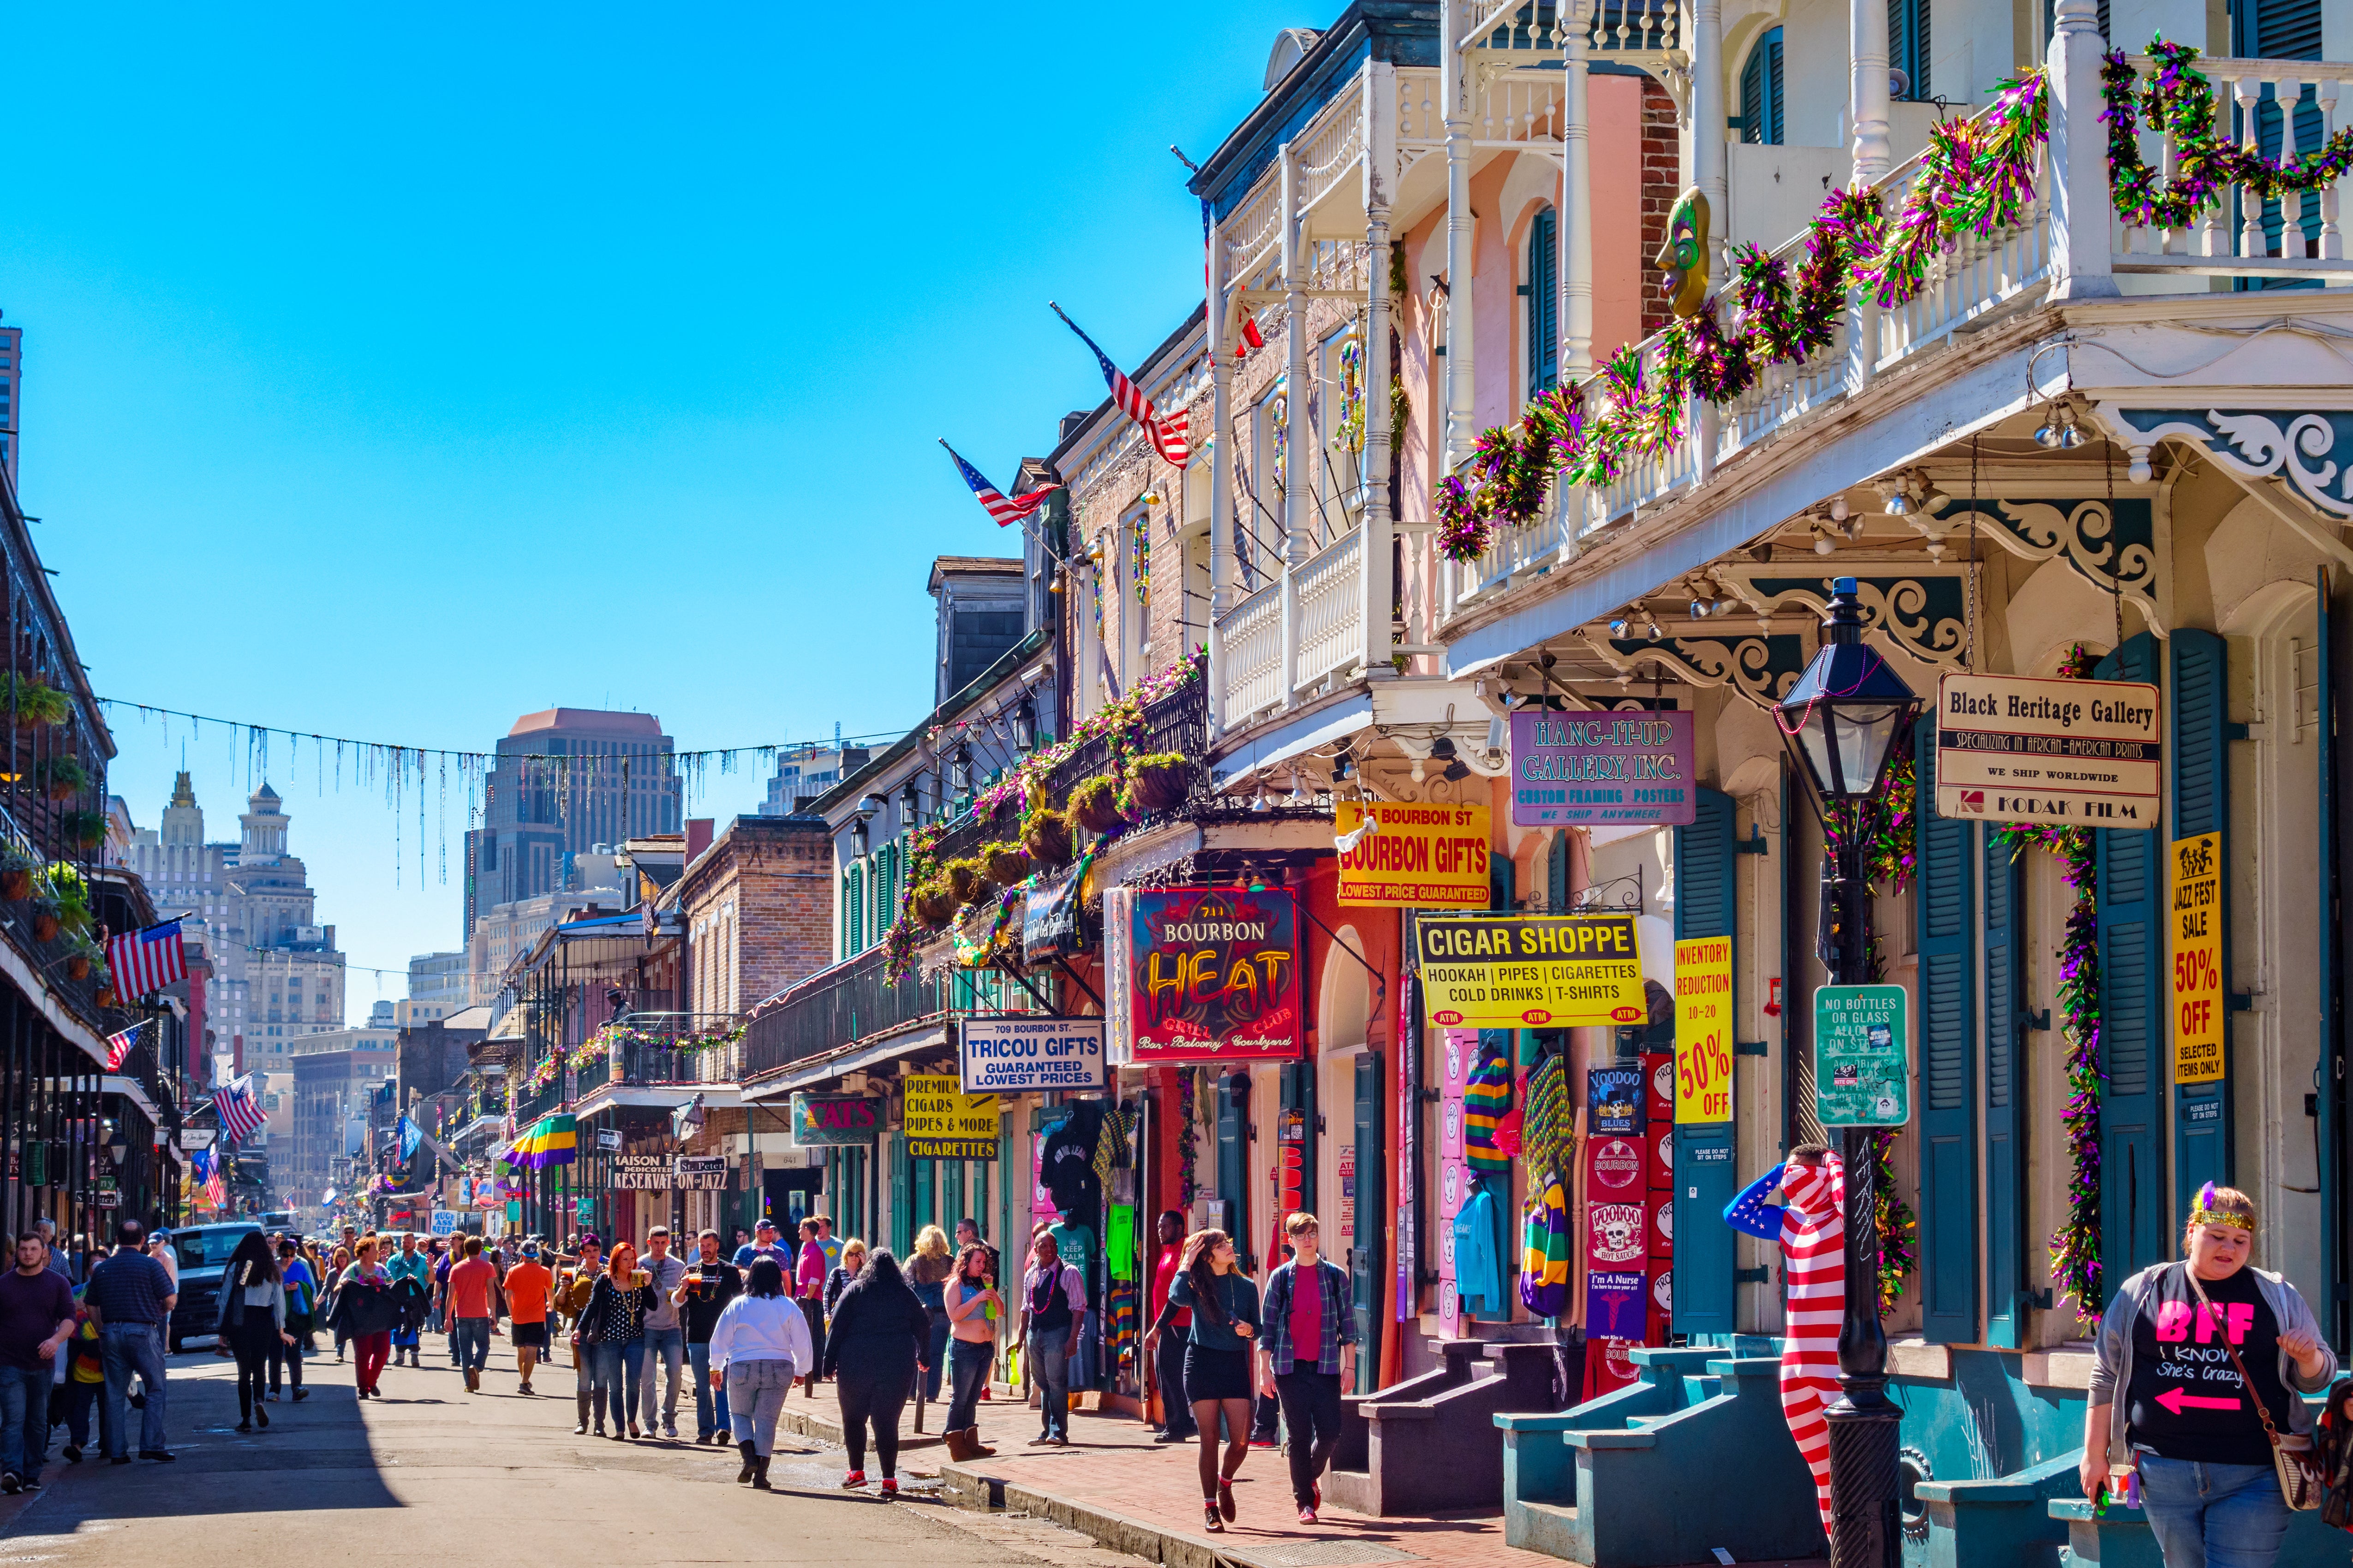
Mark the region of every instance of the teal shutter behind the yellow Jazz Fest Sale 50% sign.
<instances>
[{"instance_id":1,"label":"teal shutter behind the yellow Jazz Fest Sale 50% sign","mask_svg":"<svg viewBox=\"0 0 2353 1568\"><path fill-rule=\"evenodd\" d=\"M2158 839L2186 839L2200 832L2221 835L2221 973L2224 990L2231 990L2231 743L2228 693L2231 651L2214 632L2184 628L2169 639L2174 654L2174 693L2167 755L2172 759L2172 827ZM2158 865L2165 867L2160 853ZM2162 954L2160 954L2162 957ZM2172 1079L2172 1016L2160 1013L2167 1027L2158 1030L2158 1063L2165 1079ZM2219 1084L2177 1084L2174 1100L2174 1213L2188 1215L2191 1194L2205 1182L2231 1182L2231 1079L2233 1060L2231 1013L2224 1011L2224 1046Z\"/></svg>"}]
</instances>

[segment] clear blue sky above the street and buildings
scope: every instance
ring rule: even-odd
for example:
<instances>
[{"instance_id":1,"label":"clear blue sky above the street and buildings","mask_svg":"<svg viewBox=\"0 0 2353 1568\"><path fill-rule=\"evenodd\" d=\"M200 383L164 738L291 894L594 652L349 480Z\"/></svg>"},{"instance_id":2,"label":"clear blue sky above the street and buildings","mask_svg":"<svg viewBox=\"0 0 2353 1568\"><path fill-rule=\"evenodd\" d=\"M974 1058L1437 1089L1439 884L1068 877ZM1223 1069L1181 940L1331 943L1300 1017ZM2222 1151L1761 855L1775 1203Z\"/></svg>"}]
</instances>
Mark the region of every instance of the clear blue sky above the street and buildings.
<instances>
[{"instance_id":1,"label":"clear blue sky above the street and buildings","mask_svg":"<svg viewBox=\"0 0 2353 1568\"><path fill-rule=\"evenodd\" d=\"M21 494L96 689L473 750L555 703L680 748L911 724L929 557L1012 545L932 440L1007 484L1104 397L1049 296L1129 364L1184 320L1167 143L1205 158L1325 21L12 14ZM118 719L141 825L181 738ZM224 736L188 762L231 837L252 780ZM449 884L409 816L395 886L381 797L273 771L355 966L456 945L456 806Z\"/></svg>"}]
</instances>

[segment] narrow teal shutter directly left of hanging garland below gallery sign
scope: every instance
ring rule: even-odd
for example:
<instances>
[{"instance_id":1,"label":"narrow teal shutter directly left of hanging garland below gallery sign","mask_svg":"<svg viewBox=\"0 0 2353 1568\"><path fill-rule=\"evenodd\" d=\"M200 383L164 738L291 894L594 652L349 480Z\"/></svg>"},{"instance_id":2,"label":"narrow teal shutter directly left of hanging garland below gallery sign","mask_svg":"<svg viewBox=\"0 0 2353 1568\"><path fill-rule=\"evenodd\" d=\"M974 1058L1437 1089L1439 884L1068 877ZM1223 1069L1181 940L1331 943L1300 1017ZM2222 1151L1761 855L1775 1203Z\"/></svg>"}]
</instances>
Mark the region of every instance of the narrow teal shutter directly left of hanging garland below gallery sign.
<instances>
[{"instance_id":1,"label":"narrow teal shutter directly left of hanging garland below gallery sign","mask_svg":"<svg viewBox=\"0 0 2353 1568\"><path fill-rule=\"evenodd\" d=\"M1991 830L1986 860L1986 1345L2026 1345L2026 1107L2019 1065L2026 1053L2026 905L2019 858Z\"/></svg>"}]
</instances>

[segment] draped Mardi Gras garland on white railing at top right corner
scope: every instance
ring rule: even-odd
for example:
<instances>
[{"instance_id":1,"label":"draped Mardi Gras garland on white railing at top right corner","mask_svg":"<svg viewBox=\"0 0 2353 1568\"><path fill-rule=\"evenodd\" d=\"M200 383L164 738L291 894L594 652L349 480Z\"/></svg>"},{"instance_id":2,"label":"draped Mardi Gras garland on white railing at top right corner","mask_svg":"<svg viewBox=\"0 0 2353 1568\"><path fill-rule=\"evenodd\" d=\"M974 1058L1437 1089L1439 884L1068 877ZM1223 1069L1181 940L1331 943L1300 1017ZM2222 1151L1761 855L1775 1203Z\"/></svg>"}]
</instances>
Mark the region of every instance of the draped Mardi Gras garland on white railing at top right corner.
<instances>
[{"instance_id":1,"label":"draped Mardi Gras garland on white railing at top right corner","mask_svg":"<svg viewBox=\"0 0 2353 1568\"><path fill-rule=\"evenodd\" d=\"M2214 134L2214 85L2198 71L2198 47L2167 42L2160 33L2148 42L2155 63L2146 87L2134 87L2139 73L2122 49L2101 61L2099 85L2108 122L2108 190L2115 214L2134 228L2188 228L2191 219L2217 207L2231 186L2247 186L2261 200L2275 202L2289 190L2325 190L2353 172L2353 127L2339 129L2311 153L2273 162L2247 143ZM2287 103L2278 106L2289 113ZM2165 132L2174 146L2174 174L2158 188L2158 172L2141 158L2141 118ZM2282 127L2285 129L2285 127ZM2252 127L2249 127L2252 134Z\"/></svg>"}]
</instances>

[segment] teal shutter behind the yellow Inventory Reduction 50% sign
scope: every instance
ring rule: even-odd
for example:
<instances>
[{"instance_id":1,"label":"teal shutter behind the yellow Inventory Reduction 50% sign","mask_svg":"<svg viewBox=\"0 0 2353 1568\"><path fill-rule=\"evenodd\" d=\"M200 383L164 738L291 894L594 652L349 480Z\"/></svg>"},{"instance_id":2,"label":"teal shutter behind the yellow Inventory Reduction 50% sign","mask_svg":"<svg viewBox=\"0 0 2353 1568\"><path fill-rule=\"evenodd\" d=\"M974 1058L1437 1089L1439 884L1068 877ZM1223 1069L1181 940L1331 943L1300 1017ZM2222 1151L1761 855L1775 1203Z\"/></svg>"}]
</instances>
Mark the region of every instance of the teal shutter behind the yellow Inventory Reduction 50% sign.
<instances>
[{"instance_id":1,"label":"teal shutter behind the yellow Inventory Reduction 50% sign","mask_svg":"<svg viewBox=\"0 0 2353 1568\"><path fill-rule=\"evenodd\" d=\"M1675 940L1732 938L1734 997L1739 994L1739 875L1732 849L1732 797L1699 790L1689 827L1675 830ZM1739 1058L1734 1058L1739 1060ZM1734 1112L1737 1117L1737 1112ZM1729 1342L1734 1321L1732 1274L1739 1267L1737 1232L1725 1225L1725 1204L1739 1192L1732 1157L1739 1121L1675 1128L1675 1333L1720 1335Z\"/></svg>"}]
</instances>

